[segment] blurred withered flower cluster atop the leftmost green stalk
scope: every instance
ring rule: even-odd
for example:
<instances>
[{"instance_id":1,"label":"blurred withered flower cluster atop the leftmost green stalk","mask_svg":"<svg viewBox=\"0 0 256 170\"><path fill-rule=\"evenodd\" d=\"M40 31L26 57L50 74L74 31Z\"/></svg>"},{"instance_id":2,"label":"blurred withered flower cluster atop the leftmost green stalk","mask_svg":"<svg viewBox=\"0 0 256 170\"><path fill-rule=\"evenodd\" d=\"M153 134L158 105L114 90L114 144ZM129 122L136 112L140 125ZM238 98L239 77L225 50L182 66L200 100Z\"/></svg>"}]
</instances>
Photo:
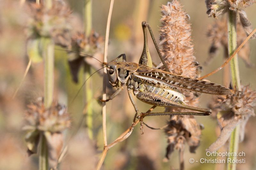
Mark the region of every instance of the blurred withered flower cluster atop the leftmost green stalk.
<instances>
[{"instance_id":1,"label":"blurred withered flower cluster atop the leftmost green stalk","mask_svg":"<svg viewBox=\"0 0 256 170\"><path fill-rule=\"evenodd\" d=\"M30 40L51 37L56 45L68 47L71 43L69 24L71 10L65 1L53 0L48 9L44 2L27 3L29 15L28 36Z\"/></svg>"}]
</instances>

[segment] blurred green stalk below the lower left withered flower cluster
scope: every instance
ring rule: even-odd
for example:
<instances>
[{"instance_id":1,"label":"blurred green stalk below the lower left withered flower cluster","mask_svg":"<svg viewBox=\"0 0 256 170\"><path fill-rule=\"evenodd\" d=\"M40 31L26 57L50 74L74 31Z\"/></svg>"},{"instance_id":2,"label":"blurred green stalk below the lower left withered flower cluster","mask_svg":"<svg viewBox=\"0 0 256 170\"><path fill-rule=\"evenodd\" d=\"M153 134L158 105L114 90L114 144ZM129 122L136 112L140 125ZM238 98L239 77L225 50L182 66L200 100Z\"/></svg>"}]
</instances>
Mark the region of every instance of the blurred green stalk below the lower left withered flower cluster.
<instances>
[{"instance_id":1,"label":"blurred green stalk below the lower left withered flower cluster","mask_svg":"<svg viewBox=\"0 0 256 170\"><path fill-rule=\"evenodd\" d=\"M40 155L39 155L39 170L48 170L48 148L46 143L46 138L43 133L40 135Z\"/></svg>"}]
</instances>

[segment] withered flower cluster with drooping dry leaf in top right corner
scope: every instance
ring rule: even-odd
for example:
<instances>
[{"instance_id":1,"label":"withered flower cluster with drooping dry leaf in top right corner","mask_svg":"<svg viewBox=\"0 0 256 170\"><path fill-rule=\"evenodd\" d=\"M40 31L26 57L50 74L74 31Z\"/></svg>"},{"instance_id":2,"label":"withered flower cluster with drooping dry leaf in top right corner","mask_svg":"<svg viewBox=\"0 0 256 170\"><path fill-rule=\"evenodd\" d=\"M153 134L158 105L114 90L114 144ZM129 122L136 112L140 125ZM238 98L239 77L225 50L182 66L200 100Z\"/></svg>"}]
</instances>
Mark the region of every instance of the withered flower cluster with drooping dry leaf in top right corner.
<instances>
[{"instance_id":1,"label":"withered flower cluster with drooping dry leaf in top right corner","mask_svg":"<svg viewBox=\"0 0 256 170\"><path fill-rule=\"evenodd\" d=\"M255 0L205 0L207 7L206 13L209 17L213 16L217 18L217 16L226 13L228 10L237 12L240 16L244 31L249 35L252 32L252 23L247 18L243 8L249 7L255 2ZM256 34L251 38L256 38Z\"/></svg>"}]
</instances>

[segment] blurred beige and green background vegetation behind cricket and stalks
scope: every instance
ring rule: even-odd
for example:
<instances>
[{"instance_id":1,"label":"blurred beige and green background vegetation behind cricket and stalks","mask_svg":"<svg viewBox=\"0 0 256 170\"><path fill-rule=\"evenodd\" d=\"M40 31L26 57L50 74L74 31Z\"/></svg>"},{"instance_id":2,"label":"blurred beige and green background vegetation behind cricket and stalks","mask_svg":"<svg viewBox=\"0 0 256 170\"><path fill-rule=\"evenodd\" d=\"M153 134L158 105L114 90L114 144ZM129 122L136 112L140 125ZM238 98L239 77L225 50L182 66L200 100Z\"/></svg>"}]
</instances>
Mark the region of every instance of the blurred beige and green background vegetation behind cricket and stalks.
<instances>
[{"instance_id":1,"label":"blurred beige and green background vegetation behind cricket and stalks","mask_svg":"<svg viewBox=\"0 0 256 170\"><path fill-rule=\"evenodd\" d=\"M77 17L77 27L83 26L84 0L69 0L70 8ZM166 0L116 0L112 14L109 38L108 60L125 53L128 61L138 62L143 49L143 32L141 22L146 20L153 33L158 39L158 29L161 26L160 6L166 4ZM206 6L202 0L181 0L184 9L190 16L192 25L192 39L194 42L195 56L197 61L203 65L208 57L211 42L206 37L208 26L214 22L214 18L208 18ZM101 36L105 36L109 1L93 0L92 2L92 28ZM245 11L256 27L255 4ZM28 76L23 82L20 91L14 100L12 94L18 87L28 63L26 51L27 33L26 26L28 12L18 0L0 0L0 169L36 169L37 156L27 156L24 142L24 113L26 105L37 97L43 96L43 63L32 63ZM72 20L72 17L71 17ZM159 40L157 40L159 42ZM256 65L256 41L249 40L251 47L251 62ZM149 39L149 50L155 63L160 60L152 41ZM211 72L224 62L223 49L221 49L208 66L203 65L201 75ZM72 126L65 133L67 138L74 136L68 142L68 152L62 160L60 169L94 169L98 157L103 148L101 129L101 98L102 77L95 74L92 83L92 139L88 137L87 121L83 120L80 128L79 123L83 117L84 99L83 91L79 93L75 101L71 103L76 92L83 84L83 70L79 72L79 82L72 81L68 67L68 55L63 51L55 51L55 87L54 98L60 103L68 106L68 112L72 117ZM252 89L256 88L256 68L247 68L246 64L239 58L239 69L243 85L250 84ZM207 78L210 81L223 84L222 70ZM111 88L109 89L111 93ZM207 107L211 96L201 96L201 107ZM136 100L139 111L144 112L150 107ZM164 108L156 108L163 111ZM129 101L127 92L122 92L114 100L107 103L107 134L108 143L119 136L131 123L134 109ZM85 115L86 118L86 115ZM185 152L185 169L221 169L226 168L222 164L190 164L188 160L194 158L209 158L205 155L205 149L212 144L218 134L217 121L210 116L197 116L198 122L205 127L203 130L201 144L196 154ZM145 122L153 127L162 127L168 120L167 116L147 117ZM239 145L239 151L245 152L245 164L238 164L238 169L256 168L256 137L253 133L256 128L256 118L251 117L245 130L245 140ZM152 130L144 127L144 135L140 135L139 126L135 127L132 135L124 142L117 144L107 154L103 169L178 169L178 153L172 154L168 162L163 162L166 137L163 130ZM225 151L225 148L223 149ZM214 159L214 157L212 157Z\"/></svg>"}]
</instances>

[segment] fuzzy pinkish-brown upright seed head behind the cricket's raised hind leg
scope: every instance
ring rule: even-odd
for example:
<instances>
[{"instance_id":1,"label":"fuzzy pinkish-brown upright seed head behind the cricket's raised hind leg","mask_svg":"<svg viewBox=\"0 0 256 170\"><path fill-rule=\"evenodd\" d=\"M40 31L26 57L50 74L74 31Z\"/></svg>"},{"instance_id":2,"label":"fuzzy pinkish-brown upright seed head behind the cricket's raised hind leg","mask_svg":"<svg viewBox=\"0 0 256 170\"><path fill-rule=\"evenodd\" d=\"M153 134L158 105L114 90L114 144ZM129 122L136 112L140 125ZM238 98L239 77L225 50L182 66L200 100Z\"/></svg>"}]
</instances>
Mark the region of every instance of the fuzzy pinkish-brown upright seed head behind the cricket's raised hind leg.
<instances>
[{"instance_id":1,"label":"fuzzy pinkish-brown upright seed head behind the cricket's raised hind leg","mask_svg":"<svg viewBox=\"0 0 256 170\"><path fill-rule=\"evenodd\" d=\"M182 9L179 1L174 0L162 5L162 26L160 27L160 45L164 60L173 73L196 78L196 57L191 39L189 15Z\"/></svg>"}]
</instances>

